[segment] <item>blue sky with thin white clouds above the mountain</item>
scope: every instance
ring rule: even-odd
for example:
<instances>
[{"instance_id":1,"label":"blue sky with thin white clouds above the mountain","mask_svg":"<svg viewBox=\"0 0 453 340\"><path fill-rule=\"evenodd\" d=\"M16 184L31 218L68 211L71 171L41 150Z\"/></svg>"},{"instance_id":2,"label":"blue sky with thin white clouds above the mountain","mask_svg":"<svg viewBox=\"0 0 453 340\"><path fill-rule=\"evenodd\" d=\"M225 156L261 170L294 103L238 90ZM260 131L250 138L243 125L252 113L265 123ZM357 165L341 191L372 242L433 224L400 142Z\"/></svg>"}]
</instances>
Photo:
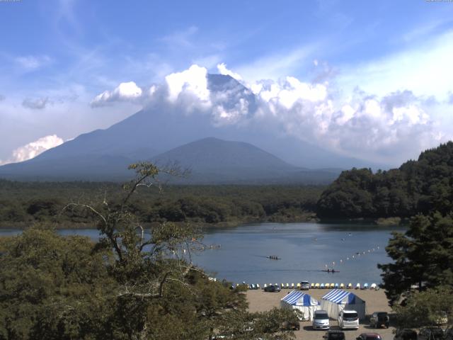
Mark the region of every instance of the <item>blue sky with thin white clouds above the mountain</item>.
<instances>
[{"instance_id":1,"label":"blue sky with thin white clouds above the mountain","mask_svg":"<svg viewBox=\"0 0 453 340\"><path fill-rule=\"evenodd\" d=\"M452 138L451 1L0 1L0 41L0 162L107 128L143 103L91 105L98 94L130 81L148 89L192 64L217 73L224 63L247 86L270 79L283 88L288 76L321 84L331 113L318 103L311 115L285 108L280 118L291 127L329 125L309 138L343 154L391 163L399 160L394 148L403 147L401 158L415 157ZM404 105L379 118L390 101ZM354 145L357 122L333 124L346 106L356 117L367 112L364 133L387 119L374 153ZM319 115L325 118L312 119ZM353 137L331 137L340 132Z\"/></svg>"}]
</instances>

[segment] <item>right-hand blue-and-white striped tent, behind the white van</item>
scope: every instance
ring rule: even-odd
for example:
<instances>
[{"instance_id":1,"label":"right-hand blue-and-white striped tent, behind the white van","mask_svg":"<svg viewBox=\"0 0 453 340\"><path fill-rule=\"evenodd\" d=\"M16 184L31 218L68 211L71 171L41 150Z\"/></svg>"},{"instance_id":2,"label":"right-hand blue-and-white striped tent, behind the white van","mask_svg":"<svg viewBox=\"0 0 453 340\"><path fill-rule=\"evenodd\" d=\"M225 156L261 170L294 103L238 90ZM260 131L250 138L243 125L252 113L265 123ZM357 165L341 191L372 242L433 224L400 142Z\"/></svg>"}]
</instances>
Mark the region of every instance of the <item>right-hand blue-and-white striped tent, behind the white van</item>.
<instances>
[{"instance_id":1,"label":"right-hand blue-and-white striped tent, behind the white van","mask_svg":"<svg viewBox=\"0 0 453 340\"><path fill-rule=\"evenodd\" d=\"M321 306L332 319L338 319L338 314L342 310L355 310L359 314L359 319L365 319L365 301L346 290L331 290L322 297Z\"/></svg>"}]
</instances>

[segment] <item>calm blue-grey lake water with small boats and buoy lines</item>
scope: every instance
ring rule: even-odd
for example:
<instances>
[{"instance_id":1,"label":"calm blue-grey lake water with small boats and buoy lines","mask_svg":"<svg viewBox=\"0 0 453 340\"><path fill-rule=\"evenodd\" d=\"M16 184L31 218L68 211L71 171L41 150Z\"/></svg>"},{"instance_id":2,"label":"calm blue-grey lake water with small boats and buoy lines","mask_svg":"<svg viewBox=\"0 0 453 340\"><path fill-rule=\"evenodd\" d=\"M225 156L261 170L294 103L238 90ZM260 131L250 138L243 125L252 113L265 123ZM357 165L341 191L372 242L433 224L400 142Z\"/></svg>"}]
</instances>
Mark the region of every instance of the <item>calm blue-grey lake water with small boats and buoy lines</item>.
<instances>
[{"instance_id":1,"label":"calm blue-grey lake water with small boats and buoy lines","mask_svg":"<svg viewBox=\"0 0 453 340\"><path fill-rule=\"evenodd\" d=\"M206 230L203 243L220 247L192 256L211 276L234 283L380 283L377 263L390 261L385 246L393 230L403 231L401 227L309 222L217 227ZM18 232L4 229L0 236ZM99 236L96 229L59 233ZM267 259L270 255L281 259ZM326 268L338 272L323 272Z\"/></svg>"}]
</instances>

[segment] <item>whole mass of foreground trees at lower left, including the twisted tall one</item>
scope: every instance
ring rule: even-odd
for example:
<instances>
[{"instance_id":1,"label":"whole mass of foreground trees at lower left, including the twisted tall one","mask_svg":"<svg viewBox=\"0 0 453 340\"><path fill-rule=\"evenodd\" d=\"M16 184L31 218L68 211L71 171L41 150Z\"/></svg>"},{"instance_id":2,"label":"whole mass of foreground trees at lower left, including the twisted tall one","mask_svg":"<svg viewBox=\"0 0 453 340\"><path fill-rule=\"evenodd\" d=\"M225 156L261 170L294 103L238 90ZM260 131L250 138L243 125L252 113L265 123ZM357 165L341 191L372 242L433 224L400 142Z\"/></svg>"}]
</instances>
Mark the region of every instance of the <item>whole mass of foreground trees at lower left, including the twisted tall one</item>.
<instances>
[{"instance_id":1,"label":"whole mass of foreground trees at lower left, including the twisted tall one","mask_svg":"<svg viewBox=\"0 0 453 340\"><path fill-rule=\"evenodd\" d=\"M244 331L274 339L282 333L275 324L285 312L248 313L243 287L230 290L193 265L190 254L202 246L197 228L164 222L146 230L134 215L132 196L160 188L161 172L176 172L149 163L130 169L136 177L120 203L105 195L64 208L93 217L98 242L41 229L1 242L0 339L183 340L219 331L231 339L246 339ZM285 331L279 339L293 335Z\"/></svg>"}]
</instances>

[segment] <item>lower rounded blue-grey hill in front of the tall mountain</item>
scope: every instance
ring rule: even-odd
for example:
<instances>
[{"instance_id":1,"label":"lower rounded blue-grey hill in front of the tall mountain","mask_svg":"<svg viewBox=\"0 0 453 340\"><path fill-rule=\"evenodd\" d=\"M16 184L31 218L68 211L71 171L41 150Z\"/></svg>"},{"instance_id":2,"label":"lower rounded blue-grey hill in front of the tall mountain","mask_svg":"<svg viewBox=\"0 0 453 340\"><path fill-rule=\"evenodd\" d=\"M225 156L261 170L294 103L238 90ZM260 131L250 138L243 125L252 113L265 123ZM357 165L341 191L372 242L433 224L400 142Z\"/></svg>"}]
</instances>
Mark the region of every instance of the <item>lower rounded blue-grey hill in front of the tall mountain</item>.
<instances>
[{"instance_id":1,"label":"lower rounded blue-grey hill in front of the tall mountain","mask_svg":"<svg viewBox=\"0 0 453 340\"><path fill-rule=\"evenodd\" d=\"M249 143L214 137L176 147L151 162L177 162L181 169L190 169L190 177L180 183L329 183L340 173L299 168Z\"/></svg>"}]
</instances>

